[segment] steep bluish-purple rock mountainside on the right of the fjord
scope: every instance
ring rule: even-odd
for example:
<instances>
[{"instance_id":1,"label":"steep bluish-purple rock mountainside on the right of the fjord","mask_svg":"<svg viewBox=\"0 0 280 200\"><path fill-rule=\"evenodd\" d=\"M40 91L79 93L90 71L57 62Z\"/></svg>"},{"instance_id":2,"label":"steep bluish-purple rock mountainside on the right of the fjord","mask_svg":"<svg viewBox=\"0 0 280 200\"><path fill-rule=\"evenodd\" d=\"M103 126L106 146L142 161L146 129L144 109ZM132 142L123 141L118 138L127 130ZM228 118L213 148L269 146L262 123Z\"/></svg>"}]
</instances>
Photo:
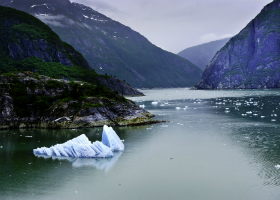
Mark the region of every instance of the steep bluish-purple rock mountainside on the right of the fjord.
<instances>
[{"instance_id":1,"label":"steep bluish-purple rock mountainside on the right of the fjord","mask_svg":"<svg viewBox=\"0 0 280 200\"><path fill-rule=\"evenodd\" d=\"M263 8L217 52L198 89L280 87L280 0Z\"/></svg>"}]
</instances>

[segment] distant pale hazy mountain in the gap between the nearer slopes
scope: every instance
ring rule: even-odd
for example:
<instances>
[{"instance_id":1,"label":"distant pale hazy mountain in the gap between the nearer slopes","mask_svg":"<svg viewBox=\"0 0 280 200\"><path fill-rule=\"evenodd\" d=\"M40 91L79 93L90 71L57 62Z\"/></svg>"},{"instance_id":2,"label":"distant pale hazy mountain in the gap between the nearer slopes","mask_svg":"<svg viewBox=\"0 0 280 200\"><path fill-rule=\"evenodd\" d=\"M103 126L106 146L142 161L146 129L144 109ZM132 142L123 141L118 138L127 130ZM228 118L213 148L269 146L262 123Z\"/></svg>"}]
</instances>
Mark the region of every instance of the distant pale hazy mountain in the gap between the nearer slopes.
<instances>
[{"instance_id":1,"label":"distant pale hazy mountain in the gap between the nearer slopes","mask_svg":"<svg viewBox=\"0 0 280 200\"><path fill-rule=\"evenodd\" d=\"M178 55L191 61L200 69L205 70L206 65L210 63L217 51L219 51L223 46L225 46L229 39L230 38L225 38L190 47L179 52Z\"/></svg>"}]
</instances>

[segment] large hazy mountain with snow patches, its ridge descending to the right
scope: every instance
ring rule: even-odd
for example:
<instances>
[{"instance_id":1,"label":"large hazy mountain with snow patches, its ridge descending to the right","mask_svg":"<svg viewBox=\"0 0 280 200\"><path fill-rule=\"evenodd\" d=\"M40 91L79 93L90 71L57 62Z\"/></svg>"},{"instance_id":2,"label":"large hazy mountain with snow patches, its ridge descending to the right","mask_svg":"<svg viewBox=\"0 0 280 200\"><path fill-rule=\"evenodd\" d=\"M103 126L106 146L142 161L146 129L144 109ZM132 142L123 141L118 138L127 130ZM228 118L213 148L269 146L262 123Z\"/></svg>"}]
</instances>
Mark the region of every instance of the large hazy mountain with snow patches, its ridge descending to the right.
<instances>
[{"instance_id":1,"label":"large hazy mountain with snow patches, its ridge descending to the right","mask_svg":"<svg viewBox=\"0 0 280 200\"><path fill-rule=\"evenodd\" d=\"M125 79L133 87L183 87L201 78L202 71L188 60L84 5L69 0L0 0L0 5L38 17L97 73Z\"/></svg>"}]
</instances>

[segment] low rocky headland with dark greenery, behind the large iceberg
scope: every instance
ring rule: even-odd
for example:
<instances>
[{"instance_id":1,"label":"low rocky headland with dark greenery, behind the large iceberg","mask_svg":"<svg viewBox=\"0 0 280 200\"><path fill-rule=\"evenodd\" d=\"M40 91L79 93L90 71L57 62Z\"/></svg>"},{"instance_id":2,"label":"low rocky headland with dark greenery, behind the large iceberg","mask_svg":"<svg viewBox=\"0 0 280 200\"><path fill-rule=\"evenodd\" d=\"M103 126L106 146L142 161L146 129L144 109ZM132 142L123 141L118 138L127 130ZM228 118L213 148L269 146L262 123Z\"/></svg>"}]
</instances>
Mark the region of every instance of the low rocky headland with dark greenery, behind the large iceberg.
<instances>
[{"instance_id":1,"label":"low rocky headland with dark greenery, behind the large iceberg","mask_svg":"<svg viewBox=\"0 0 280 200\"><path fill-rule=\"evenodd\" d=\"M0 75L0 129L157 123L152 117L134 102L100 85L32 72Z\"/></svg>"}]
</instances>

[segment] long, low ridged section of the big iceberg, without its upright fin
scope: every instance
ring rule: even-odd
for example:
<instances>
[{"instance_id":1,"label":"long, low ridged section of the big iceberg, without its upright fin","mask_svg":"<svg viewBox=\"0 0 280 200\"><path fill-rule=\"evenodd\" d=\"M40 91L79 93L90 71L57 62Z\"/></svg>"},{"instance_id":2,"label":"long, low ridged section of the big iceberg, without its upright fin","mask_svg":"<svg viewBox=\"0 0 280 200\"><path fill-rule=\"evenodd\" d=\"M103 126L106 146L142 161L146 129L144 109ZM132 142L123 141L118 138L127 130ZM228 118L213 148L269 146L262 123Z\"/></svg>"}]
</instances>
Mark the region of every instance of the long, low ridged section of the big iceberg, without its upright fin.
<instances>
[{"instance_id":1,"label":"long, low ridged section of the big iceberg, without its upright fin","mask_svg":"<svg viewBox=\"0 0 280 200\"><path fill-rule=\"evenodd\" d=\"M109 147L99 141L91 143L84 134L50 148L33 149L33 153L35 155L76 158L106 158L113 156L113 152Z\"/></svg>"}]
</instances>

